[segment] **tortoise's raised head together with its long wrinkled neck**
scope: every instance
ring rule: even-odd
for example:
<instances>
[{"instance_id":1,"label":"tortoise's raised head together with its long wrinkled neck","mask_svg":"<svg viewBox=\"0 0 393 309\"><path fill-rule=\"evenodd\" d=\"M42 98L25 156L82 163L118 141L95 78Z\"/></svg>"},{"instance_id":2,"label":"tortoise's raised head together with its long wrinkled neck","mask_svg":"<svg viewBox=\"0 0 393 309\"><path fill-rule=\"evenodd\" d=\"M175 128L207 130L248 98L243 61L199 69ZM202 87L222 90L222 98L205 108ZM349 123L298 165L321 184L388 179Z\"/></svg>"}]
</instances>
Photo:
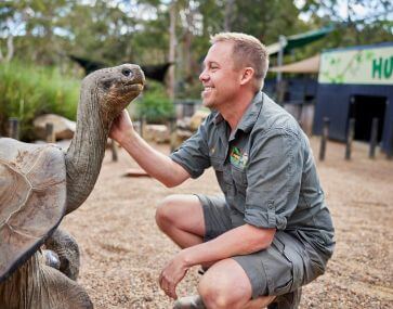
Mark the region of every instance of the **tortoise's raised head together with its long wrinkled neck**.
<instances>
[{"instance_id":1,"label":"tortoise's raised head together with its long wrinkled neck","mask_svg":"<svg viewBox=\"0 0 393 309\"><path fill-rule=\"evenodd\" d=\"M67 214L88 198L100 173L112 123L141 93L144 82L136 65L100 69L83 79L83 104L78 106L77 130L65 156Z\"/></svg>"}]
</instances>

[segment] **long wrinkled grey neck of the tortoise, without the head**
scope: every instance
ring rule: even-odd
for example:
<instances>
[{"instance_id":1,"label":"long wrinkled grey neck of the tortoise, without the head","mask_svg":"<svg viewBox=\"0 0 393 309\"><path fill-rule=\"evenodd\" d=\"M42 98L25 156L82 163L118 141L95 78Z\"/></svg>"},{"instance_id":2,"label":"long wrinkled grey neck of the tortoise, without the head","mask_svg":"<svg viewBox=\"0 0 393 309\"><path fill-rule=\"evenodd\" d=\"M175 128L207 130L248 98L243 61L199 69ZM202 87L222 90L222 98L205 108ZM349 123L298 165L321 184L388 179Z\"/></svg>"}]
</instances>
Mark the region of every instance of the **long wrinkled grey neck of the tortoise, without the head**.
<instances>
[{"instance_id":1,"label":"long wrinkled grey neck of the tortoise, without the head","mask_svg":"<svg viewBox=\"0 0 393 309\"><path fill-rule=\"evenodd\" d=\"M97 101L95 93L81 92L76 132L65 155L67 214L77 209L88 198L100 175L105 155L112 121L108 120L108 115L100 114Z\"/></svg>"}]
</instances>

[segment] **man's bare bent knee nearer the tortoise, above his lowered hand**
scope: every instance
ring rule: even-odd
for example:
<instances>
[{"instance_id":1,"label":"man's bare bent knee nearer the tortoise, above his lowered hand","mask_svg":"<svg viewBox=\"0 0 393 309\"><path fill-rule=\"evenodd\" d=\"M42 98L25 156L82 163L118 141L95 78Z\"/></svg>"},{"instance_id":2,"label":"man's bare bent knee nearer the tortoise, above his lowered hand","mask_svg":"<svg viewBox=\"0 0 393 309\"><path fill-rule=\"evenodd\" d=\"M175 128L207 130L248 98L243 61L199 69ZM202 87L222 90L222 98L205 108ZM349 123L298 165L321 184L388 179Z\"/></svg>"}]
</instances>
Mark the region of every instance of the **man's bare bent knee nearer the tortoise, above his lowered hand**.
<instances>
[{"instance_id":1,"label":"man's bare bent knee nearer the tortoise, above his lowered hand","mask_svg":"<svg viewBox=\"0 0 393 309\"><path fill-rule=\"evenodd\" d=\"M196 195L167 196L157 208L156 222L181 248L204 242L204 210Z\"/></svg>"}]
</instances>

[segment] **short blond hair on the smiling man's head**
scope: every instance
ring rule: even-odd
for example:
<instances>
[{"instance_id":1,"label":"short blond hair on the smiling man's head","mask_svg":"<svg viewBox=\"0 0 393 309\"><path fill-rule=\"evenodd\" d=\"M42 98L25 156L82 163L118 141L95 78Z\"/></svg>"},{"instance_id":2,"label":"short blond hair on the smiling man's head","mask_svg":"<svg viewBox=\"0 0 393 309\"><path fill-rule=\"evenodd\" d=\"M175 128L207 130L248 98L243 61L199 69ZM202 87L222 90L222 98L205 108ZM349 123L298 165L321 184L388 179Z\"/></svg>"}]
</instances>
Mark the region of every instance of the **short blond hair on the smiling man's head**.
<instances>
[{"instance_id":1,"label":"short blond hair on the smiling man's head","mask_svg":"<svg viewBox=\"0 0 393 309\"><path fill-rule=\"evenodd\" d=\"M253 36L240 33L220 33L210 37L210 43L233 42L234 63L237 68L250 66L254 69L254 88L263 88L263 80L268 68L268 54L264 44Z\"/></svg>"}]
</instances>

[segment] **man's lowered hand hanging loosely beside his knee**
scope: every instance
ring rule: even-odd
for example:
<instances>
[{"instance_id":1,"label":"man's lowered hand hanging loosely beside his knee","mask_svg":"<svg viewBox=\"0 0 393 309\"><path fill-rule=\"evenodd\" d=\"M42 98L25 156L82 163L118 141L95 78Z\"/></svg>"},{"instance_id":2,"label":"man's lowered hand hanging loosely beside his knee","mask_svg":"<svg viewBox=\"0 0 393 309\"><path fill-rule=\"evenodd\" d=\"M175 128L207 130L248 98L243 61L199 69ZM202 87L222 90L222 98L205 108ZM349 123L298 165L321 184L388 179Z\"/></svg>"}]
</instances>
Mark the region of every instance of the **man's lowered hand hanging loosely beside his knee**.
<instances>
[{"instance_id":1,"label":"man's lowered hand hanging loosely beside his knee","mask_svg":"<svg viewBox=\"0 0 393 309\"><path fill-rule=\"evenodd\" d=\"M176 285L187 273L188 267L184 259L176 255L161 271L159 275L159 285L161 289L171 298L178 299Z\"/></svg>"}]
</instances>

